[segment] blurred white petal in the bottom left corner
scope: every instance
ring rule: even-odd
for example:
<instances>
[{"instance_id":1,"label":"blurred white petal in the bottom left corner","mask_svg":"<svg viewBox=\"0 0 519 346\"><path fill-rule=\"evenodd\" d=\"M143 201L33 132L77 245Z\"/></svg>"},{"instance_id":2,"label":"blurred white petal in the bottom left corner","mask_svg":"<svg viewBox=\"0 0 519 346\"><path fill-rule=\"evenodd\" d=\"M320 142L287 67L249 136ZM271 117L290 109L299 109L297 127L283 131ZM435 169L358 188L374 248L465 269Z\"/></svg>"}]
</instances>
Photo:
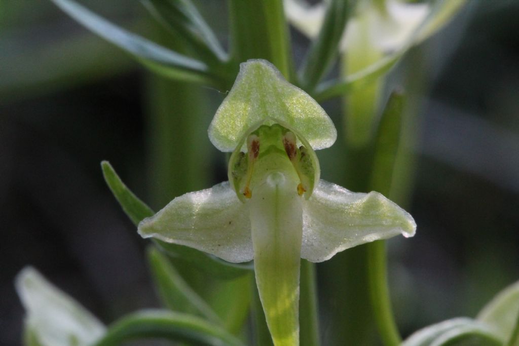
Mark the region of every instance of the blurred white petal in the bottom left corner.
<instances>
[{"instance_id":1,"label":"blurred white petal in the bottom left corner","mask_svg":"<svg viewBox=\"0 0 519 346\"><path fill-rule=\"evenodd\" d=\"M86 346L105 333L104 325L34 268L24 268L16 290L28 314L30 333L44 346Z\"/></svg>"}]
</instances>

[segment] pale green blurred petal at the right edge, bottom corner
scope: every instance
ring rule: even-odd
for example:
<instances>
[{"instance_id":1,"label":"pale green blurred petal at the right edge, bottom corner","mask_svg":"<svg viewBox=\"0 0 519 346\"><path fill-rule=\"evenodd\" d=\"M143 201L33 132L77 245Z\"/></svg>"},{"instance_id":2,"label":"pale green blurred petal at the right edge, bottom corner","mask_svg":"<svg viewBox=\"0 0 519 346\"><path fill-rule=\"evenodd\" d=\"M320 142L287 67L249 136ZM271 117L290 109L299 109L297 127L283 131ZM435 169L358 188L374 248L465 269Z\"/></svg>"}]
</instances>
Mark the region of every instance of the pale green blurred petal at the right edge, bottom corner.
<instances>
[{"instance_id":1,"label":"pale green blurred petal at the right edge, bottom corner","mask_svg":"<svg viewBox=\"0 0 519 346\"><path fill-rule=\"evenodd\" d=\"M477 320L488 325L503 342L510 340L519 321L519 281L490 300L477 315Z\"/></svg>"}]
</instances>

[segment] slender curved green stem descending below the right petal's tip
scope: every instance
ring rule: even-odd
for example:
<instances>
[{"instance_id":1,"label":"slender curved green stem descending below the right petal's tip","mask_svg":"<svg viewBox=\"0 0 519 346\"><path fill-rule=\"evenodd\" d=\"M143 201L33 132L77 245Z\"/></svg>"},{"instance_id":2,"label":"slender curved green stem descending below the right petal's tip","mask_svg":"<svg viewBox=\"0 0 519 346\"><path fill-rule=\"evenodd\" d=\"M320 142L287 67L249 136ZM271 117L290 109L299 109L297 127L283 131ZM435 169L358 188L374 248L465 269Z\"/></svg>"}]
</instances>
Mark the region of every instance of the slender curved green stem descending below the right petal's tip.
<instances>
[{"instance_id":1,"label":"slender curved green stem descending below the right petal's tip","mask_svg":"<svg viewBox=\"0 0 519 346\"><path fill-rule=\"evenodd\" d=\"M366 248L371 307L378 331L386 346L398 346L402 339L391 309L387 284L386 241L379 240L369 243Z\"/></svg>"}]
</instances>

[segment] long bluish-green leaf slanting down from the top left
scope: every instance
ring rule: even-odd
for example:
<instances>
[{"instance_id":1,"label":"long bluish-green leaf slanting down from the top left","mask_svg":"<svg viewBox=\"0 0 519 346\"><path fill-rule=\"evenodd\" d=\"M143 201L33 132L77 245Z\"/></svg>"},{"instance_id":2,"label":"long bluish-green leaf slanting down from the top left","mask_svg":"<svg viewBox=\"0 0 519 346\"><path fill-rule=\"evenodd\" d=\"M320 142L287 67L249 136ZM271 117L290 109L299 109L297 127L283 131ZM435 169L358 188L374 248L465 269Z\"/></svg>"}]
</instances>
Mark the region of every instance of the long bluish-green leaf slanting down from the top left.
<instances>
[{"instance_id":1,"label":"long bluish-green leaf slanting down from the top left","mask_svg":"<svg viewBox=\"0 0 519 346\"><path fill-rule=\"evenodd\" d=\"M170 77L211 83L208 66L162 47L141 36L132 34L96 15L73 0L51 0L87 29L131 53L144 65Z\"/></svg>"}]
</instances>

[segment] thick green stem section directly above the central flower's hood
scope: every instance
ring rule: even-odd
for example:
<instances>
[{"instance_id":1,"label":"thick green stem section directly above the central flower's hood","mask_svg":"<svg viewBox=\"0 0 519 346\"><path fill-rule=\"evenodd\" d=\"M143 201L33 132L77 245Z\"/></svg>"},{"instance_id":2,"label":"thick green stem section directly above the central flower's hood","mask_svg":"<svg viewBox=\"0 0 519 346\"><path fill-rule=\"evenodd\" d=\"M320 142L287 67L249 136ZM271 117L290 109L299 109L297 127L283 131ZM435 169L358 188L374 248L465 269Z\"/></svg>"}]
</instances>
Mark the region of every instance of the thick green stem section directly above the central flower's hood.
<instances>
[{"instance_id":1,"label":"thick green stem section directly above the central flower's hood","mask_svg":"<svg viewBox=\"0 0 519 346\"><path fill-rule=\"evenodd\" d=\"M288 25L280 0L229 0L231 59L266 59L291 75Z\"/></svg>"}]
</instances>

